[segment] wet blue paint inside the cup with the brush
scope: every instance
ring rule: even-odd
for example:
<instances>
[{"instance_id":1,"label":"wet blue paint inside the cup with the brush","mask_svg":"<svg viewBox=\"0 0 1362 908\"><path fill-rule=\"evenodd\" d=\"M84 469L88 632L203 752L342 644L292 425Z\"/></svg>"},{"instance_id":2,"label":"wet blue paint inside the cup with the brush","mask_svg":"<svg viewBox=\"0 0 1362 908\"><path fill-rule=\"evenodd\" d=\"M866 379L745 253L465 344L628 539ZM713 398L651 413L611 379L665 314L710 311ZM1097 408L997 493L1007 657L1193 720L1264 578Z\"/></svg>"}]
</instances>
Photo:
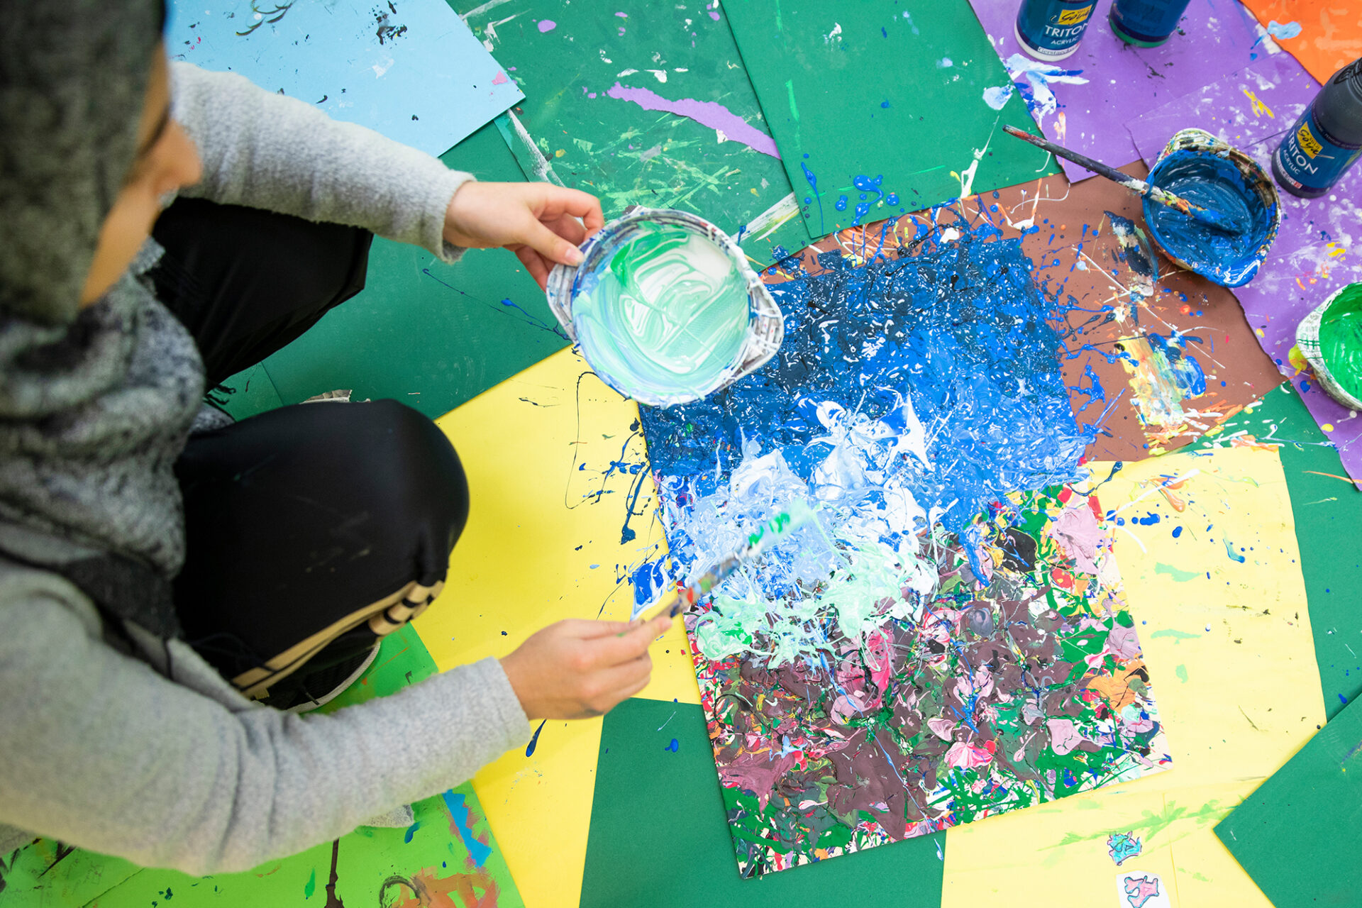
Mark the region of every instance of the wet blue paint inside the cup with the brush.
<instances>
[{"instance_id":1,"label":"wet blue paint inside the cup with the brush","mask_svg":"<svg viewBox=\"0 0 1362 908\"><path fill-rule=\"evenodd\" d=\"M1248 225L1238 231L1218 230L1145 200L1144 219L1159 245L1216 283L1238 286L1252 278L1256 263L1261 261L1273 212L1238 167L1211 151L1175 151L1155 165L1150 182Z\"/></svg>"}]
</instances>

